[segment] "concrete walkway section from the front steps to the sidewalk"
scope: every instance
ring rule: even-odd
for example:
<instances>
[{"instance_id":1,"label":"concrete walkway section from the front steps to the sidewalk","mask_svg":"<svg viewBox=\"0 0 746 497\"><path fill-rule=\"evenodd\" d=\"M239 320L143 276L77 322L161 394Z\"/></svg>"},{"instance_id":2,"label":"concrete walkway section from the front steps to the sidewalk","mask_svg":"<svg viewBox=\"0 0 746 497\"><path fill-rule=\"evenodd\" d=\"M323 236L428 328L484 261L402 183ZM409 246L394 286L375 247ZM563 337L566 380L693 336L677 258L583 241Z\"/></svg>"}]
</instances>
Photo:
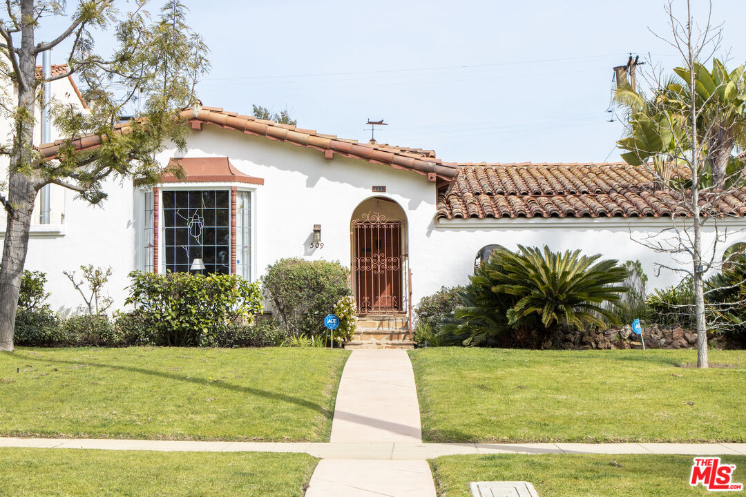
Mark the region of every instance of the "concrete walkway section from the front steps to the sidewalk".
<instances>
[{"instance_id":1,"label":"concrete walkway section from the front steps to the sidewalk","mask_svg":"<svg viewBox=\"0 0 746 497\"><path fill-rule=\"evenodd\" d=\"M354 350L336 393L331 443L421 440L415 375L407 352Z\"/></svg>"}]
</instances>

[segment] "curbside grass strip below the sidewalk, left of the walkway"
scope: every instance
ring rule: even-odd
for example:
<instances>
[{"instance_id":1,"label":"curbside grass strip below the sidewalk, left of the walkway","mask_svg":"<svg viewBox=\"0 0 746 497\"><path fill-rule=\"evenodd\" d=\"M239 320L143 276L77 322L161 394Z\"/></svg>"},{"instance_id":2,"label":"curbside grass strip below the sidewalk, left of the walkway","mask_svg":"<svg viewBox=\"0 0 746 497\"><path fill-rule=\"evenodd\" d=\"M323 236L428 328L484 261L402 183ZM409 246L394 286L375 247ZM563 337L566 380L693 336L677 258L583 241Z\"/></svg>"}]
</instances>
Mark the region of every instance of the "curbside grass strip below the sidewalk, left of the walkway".
<instances>
[{"instance_id":1,"label":"curbside grass strip below the sidewalk, left of the walkway","mask_svg":"<svg viewBox=\"0 0 746 497\"><path fill-rule=\"evenodd\" d=\"M306 454L0 449L0 496L300 497Z\"/></svg>"}]
</instances>

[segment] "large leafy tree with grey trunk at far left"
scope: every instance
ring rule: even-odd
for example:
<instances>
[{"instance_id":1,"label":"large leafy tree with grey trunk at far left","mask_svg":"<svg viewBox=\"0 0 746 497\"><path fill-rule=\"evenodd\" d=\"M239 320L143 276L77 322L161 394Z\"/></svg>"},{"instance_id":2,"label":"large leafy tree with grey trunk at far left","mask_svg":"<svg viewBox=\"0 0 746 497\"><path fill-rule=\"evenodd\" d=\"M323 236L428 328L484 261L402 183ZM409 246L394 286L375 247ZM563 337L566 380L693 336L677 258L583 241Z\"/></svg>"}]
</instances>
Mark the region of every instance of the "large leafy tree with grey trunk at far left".
<instances>
[{"instance_id":1,"label":"large leafy tree with grey trunk at far left","mask_svg":"<svg viewBox=\"0 0 746 497\"><path fill-rule=\"evenodd\" d=\"M186 8L169 0L157 19L145 10L148 0L120 10L113 0L78 0L72 7L58 0L6 0L0 16L0 77L17 87L4 95L1 110L13 121L13 136L0 153L9 158L6 235L0 265L0 350L13 349L13 326L19 285L28 247L28 230L37 192L50 183L76 191L99 203L107 177L138 177L155 182L160 166L154 154L170 140L186 144L186 123L179 110L194 100L197 78L206 72L207 48L186 25ZM66 24L57 37L38 42L42 23ZM113 37L106 55L96 45ZM98 38L98 40L97 40ZM36 77L37 57L65 47L68 71L49 78L75 75L95 100L90 113L77 113L59 102L48 109L64 139L43 153L34 143L34 107L42 106L43 79ZM57 60L57 62L62 62ZM126 125L117 124L125 109L140 109ZM80 150L75 140L96 136L97 148Z\"/></svg>"}]
</instances>

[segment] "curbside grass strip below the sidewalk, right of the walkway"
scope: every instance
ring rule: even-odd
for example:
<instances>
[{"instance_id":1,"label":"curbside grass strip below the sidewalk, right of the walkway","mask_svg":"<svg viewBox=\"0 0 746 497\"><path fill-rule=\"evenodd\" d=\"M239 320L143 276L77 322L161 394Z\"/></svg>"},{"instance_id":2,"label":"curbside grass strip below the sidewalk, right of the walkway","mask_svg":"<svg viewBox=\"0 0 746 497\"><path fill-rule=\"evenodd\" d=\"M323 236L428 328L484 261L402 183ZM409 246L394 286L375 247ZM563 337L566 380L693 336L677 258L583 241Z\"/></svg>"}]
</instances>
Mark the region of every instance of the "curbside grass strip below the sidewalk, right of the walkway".
<instances>
[{"instance_id":1,"label":"curbside grass strip below the sidewalk, right of the walkway","mask_svg":"<svg viewBox=\"0 0 746 497\"><path fill-rule=\"evenodd\" d=\"M529 481L541 497L712 494L689 486L692 462L685 455L467 455L433 459L430 466L439 497L471 497L471 481ZM722 462L736 464L733 483L746 482L745 456L723 456Z\"/></svg>"}]
</instances>

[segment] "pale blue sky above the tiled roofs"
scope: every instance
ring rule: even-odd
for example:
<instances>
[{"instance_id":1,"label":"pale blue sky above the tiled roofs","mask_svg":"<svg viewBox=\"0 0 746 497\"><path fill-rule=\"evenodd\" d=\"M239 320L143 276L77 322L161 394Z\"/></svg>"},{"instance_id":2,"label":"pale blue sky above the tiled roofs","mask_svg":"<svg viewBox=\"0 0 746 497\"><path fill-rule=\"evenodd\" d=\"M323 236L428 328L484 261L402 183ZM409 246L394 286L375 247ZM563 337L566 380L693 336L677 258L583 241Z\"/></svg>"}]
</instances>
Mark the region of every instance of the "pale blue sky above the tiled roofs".
<instances>
[{"instance_id":1,"label":"pale blue sky above the tiled roofs","mask_svg":"<svg viewBox=\"0 0 746 497\"><path fill-rule=\"evenodd\" d=\"M384 118L378 142L447 161L618 160L612 67L630 52L680 60L651 33L670 39L657 0L184 3L212 51L205 105L287 108L299 127L361 141L366 120ZM694 4L704 22L706 2ZM730 66L743 63L746 1L714 0L712 14Z\"/></svg>"}]
</instances>

